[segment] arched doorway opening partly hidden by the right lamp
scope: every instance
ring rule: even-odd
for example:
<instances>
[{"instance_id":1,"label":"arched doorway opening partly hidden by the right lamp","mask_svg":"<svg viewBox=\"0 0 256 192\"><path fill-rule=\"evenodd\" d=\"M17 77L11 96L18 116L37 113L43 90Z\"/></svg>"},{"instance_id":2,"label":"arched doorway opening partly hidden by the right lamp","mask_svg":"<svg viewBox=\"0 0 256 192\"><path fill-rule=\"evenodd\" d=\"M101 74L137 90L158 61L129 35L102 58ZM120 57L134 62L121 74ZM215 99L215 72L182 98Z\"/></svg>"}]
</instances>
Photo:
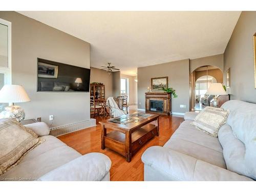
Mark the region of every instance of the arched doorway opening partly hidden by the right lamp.
<instances>
[{"instance_id":1,"label":"arched doorway opening partly hidden by the right lamp","mask_svg":"<svg viewBox=\"0 0 256 192\"><path fill-rule=\"evenodd\" d=\"M191 82L191 111L201 111L210 104L211 97L205 95L211 83L223 83L223 73L215 66L203 66L190 74Z\"/></svg>"}]
</instances>

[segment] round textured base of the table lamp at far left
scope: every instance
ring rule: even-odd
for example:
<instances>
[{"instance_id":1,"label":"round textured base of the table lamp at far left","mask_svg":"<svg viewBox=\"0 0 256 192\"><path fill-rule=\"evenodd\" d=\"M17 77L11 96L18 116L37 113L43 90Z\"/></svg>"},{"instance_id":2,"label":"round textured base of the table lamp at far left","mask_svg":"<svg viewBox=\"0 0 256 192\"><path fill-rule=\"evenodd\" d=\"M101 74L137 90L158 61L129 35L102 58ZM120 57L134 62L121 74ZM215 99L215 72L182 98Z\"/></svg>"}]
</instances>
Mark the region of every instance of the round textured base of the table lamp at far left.
<instances>
[{"instance_id":1,"label":"round textured base of the table lamp at far left","mask_svg":"<svg viewBox=\"0 0 256 192\"><path fill-rule=\"evenodd\" d=\"M0 113L0 119L3 118L13 118L20 122L25 118L25 112L18 105L6 106L5 110Z\"/></svg>"}]
</instances>

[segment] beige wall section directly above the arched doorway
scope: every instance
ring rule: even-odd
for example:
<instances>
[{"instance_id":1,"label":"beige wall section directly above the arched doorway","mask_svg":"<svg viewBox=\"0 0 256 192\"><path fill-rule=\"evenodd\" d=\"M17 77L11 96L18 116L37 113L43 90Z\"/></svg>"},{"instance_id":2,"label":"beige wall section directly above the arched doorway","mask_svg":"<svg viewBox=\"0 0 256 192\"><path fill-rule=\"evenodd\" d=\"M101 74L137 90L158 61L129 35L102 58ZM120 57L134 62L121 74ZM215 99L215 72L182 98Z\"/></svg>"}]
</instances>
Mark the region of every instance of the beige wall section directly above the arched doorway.
<instances>
[{"instance_id":1,"label":"beige wall section directly above the arched doorway","mask_svg":"<svg viewBox=\"0 0 256 192\"><path fill-rule=\"evenodd\" d=\"M223 71L223 54L189 60L190 73L202 66L215 66Z\"/></svg>"}]
</instances>

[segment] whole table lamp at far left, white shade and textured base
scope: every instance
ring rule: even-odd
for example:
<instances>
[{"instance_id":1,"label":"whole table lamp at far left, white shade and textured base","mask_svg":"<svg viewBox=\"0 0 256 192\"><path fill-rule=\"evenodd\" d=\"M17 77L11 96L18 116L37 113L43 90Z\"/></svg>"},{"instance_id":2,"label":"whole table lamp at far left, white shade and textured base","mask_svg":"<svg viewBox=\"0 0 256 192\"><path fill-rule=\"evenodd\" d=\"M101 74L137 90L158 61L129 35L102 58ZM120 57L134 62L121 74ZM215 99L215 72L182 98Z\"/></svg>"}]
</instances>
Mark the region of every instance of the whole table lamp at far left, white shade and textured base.
<instances>
[{"instance_id":1,"label":"whole table lamp at far left, white shade and textured base","mask_svg":"<svg viewBox=\"0 0 256 192\"><path fill-rule=\"evenodd\" d=\"M6 84L0 90L0 103L11 103L4 111L0 113L0 119L2 118L14 118L17 121L22 121L25 118L24 110L14 103L28 102L30 98L22 86L16 84Z\"/></svg>"}]
</instances>

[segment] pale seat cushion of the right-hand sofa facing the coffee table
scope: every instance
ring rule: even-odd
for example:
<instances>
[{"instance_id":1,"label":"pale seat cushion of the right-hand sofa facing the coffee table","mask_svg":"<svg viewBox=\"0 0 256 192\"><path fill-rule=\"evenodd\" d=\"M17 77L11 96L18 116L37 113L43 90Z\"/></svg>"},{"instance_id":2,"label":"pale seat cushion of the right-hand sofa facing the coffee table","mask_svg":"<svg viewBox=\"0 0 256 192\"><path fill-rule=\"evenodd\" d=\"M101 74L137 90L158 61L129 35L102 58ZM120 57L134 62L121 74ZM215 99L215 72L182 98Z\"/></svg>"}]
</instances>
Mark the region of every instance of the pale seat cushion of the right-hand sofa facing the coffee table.
<instances>
[{"instance_id":1,"label":"pale seat cushion of the right-hand sofa facing the coffee table","mask_svg":"<svg viewBox=\"0 0 256 192\"><path fill-rule=\"evenodd\" d=\"M189 120L183 121L172 137L164 144L164 147L226 168L222 146L218 138L198 130L191 122Z\"/></svg>"}]
</instances>

